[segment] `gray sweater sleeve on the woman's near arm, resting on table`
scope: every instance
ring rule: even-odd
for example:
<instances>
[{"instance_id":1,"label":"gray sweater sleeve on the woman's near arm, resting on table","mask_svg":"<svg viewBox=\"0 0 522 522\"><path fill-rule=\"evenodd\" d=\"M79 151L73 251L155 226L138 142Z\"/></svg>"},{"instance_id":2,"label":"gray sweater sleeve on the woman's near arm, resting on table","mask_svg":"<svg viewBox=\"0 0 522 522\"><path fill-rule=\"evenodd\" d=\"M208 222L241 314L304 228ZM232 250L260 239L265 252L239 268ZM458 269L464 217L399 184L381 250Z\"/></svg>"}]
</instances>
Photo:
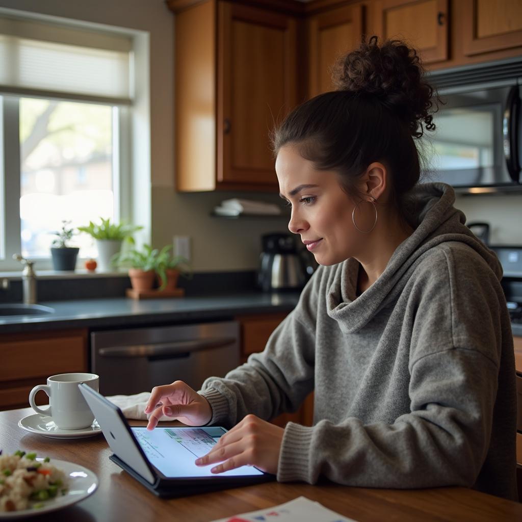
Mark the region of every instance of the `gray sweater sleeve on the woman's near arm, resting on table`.
<instances>
[{"instance_id":1,"label":"gray sweater sleeve on the woman's near arm, resting on table","mask_svg":"<svg viewBox=\"0 0 522 522\"><path fill-rule=\"evenodd\" d=\"M322 474L360 487L474 484L488 452L497 393L500 285L483 280L480 290L470 292L462 288L467 283L456 274L453 260L446 254L439 260L445 276L428 271L411 296L417 306L409 363L411 411L391 424L365 425L354 417L338 424L322 420L312 428L289 423L279 481L315 483Z\"/></svg>"}]
</instances>

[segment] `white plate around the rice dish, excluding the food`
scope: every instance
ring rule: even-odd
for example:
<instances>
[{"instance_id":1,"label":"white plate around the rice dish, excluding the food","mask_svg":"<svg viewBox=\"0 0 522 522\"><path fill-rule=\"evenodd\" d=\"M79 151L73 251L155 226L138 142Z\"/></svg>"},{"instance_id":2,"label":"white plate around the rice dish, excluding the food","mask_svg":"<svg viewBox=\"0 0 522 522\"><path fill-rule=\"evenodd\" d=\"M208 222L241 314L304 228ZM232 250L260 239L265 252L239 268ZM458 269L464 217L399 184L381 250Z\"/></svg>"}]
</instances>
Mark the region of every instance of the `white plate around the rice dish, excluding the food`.
<instances>
[{"instance_id":1,"label":"white plate around the rice dish, excluding the food","mask_svg":"<svg viewBox=\"0 0 522 522\"><path fill-rule=\"evenodd\" d=\"M43 461L43 458L37 458L38 461ZM66 460L51 459L49 464L52 464L58 469L61 469L67 477L67 493L65 495L58 494L54 499L45 501L30 501L29 505L43 504L42 507L23 509L22 511L9 511L7 513L0 513L0 520L13 520L15 518L26 518L42 513L49 513L64 507L76 504L80 500L86 499L92 495L96 488L98 488L98 477L91 470L84 468L73 462Z\"/></svg>"}]
</instances>

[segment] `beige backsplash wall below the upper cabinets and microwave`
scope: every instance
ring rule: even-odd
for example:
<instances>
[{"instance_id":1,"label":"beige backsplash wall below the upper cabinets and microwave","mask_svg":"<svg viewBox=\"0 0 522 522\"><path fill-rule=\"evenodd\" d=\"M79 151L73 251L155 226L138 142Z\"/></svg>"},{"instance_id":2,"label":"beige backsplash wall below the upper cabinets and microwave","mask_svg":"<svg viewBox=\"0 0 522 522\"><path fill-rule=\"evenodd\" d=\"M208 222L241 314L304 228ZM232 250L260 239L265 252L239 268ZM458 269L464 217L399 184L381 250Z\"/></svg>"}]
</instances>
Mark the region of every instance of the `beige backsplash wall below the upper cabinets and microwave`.
<instances>
[{"instance_id":1,"label":"beige backsplash wall below the upper cabinets and microwave","mask_svg":"<svg viewBox=\"0 0 522 522\"><path fill-rule=\"evenodd\" d=\"M288 232L284 218L211 217L223 199L254 198L278 203L276 194L178 194L172 187L152 188L152 243L168 244L174 234L192 238L195 271L253 270L258 267L260 237L268 232ZM456 207L468 221L487 221L492 244L522 245L522 195L458 196Z\"/></svg>"}]
</instances>

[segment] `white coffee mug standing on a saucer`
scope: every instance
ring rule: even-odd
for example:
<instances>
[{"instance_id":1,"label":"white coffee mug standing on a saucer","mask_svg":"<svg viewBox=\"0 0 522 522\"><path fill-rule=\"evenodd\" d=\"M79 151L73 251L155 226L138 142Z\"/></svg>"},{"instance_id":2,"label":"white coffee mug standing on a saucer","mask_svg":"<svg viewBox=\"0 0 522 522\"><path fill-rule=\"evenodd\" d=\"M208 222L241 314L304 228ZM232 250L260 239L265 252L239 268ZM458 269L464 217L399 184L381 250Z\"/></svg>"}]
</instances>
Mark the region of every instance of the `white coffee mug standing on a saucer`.
<instances>
[{"instance_id":1,"label":"white coffee mug standing on a saucer","mask_svg":"<svg viewBox=\"0 0 522 522\"><path fill-rule=\"evenodd\" d=\"M94 421L94 415L78 389L80 383L98 391L100 377L93 373L52 375L47 379L47 384L39 384L31 390L29 404L35 412L51 417L62 430L88 428ZM39 390L49 396L49 408L46 410L34 404L34 396Z\"/></svg>"}]
</instances>

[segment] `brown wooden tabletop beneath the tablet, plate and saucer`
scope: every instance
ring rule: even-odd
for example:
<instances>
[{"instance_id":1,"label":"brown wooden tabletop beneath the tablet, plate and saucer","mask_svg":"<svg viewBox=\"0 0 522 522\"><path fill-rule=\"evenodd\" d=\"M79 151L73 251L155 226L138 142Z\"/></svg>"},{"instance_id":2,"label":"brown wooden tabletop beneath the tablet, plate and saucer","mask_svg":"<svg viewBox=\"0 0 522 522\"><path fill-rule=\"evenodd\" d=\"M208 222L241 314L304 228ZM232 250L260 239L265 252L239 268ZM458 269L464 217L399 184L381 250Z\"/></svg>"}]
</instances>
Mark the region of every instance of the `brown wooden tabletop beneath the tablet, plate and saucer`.
<instances>
[{"instance_id":1,"label":"brown wooden tabletop beneath the tablet, plate and saucer","mask_svg":"<svg viewBox=\"0 0 522 522\"><path fill-rule=\"evenodd\" d=\"M75 522L208 522L221 517L267 508L300 495L354 520L522 520L522 504L466 488L386 490L349 488L331 483L269 482L180 499L161 500L109 460L111 450L103 435L60 440L32 435L18 428L30 408L0 411L0 447L4 452L34 450L39 455L76 462L100 480L96 493L61 511L35 520ZM144 425L144 422L135 422ZM169 425L171 423L165 423Z\"/></svg>"}]
</instances>

